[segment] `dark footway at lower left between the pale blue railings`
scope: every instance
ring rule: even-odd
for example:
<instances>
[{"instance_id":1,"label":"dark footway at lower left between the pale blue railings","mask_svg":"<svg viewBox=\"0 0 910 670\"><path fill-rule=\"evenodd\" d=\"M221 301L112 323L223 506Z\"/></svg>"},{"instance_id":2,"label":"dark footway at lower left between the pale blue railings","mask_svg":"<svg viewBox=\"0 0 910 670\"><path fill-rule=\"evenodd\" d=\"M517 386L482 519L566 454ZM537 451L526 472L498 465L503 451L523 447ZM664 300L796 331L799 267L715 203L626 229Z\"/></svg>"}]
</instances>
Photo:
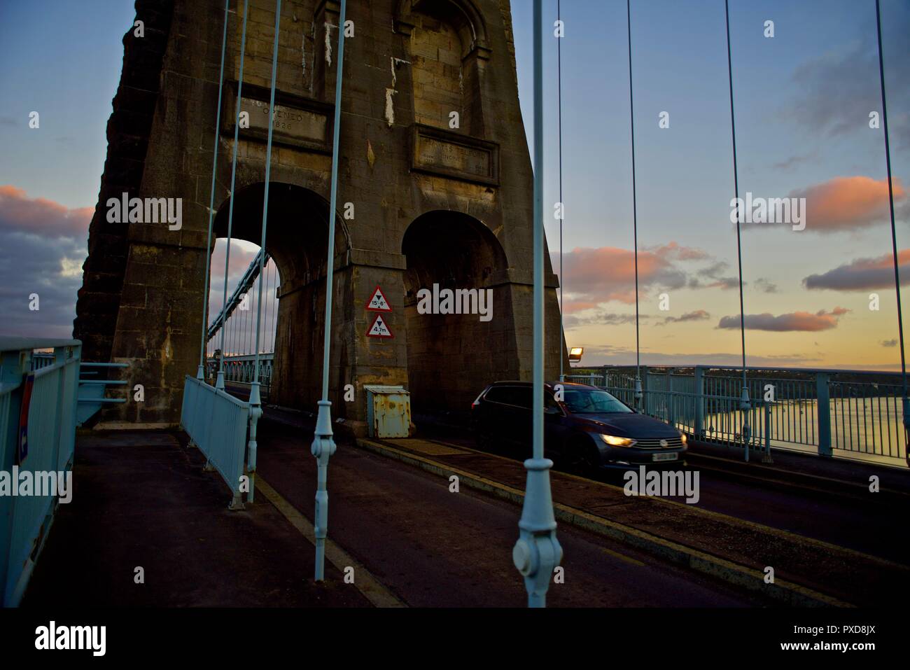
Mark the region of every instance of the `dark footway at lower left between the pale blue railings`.
<instances>
[{"instance_id":1,"label":"dark footway at lower left between the pale blue railings","mask_svg":"<svg viewBox=\"0 0 910 670\"><path fill-rule=\"evenodd\" d=\"M230 492L204 464L176 433L79 434L73 502L60 506L23 605L369 606L357 590L306 579L312 546L268 503L227 511Z\"/></svg>"}]
</instances>

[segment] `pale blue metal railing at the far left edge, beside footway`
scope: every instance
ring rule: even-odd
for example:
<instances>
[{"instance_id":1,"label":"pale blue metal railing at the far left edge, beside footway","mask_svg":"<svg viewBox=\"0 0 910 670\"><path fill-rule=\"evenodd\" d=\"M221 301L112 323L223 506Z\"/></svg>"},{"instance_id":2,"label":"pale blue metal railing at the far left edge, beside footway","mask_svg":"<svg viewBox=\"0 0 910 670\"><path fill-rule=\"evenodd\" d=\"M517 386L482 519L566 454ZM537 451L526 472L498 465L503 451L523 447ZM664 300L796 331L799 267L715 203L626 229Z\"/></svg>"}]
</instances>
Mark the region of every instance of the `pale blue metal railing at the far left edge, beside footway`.
<instances>
[{"instance_id":1,"label":"pale blue metal railing at the far left edge, beside footway","mask_svg":"<svg viewBox=\"0 0 910 670\"><path fill-rule=\"evenodd\" d=\"M48 349L53 354L36 355ZM73 467L81 350L78 340L0 338L0 471L19 493L0 496L5 606L22 599L59 504L56 484L47 490L38 482L53 476L58 483L58 473ZM28 477L32 487L25 494L18 487Z\"/></svg>"}]
</instances>

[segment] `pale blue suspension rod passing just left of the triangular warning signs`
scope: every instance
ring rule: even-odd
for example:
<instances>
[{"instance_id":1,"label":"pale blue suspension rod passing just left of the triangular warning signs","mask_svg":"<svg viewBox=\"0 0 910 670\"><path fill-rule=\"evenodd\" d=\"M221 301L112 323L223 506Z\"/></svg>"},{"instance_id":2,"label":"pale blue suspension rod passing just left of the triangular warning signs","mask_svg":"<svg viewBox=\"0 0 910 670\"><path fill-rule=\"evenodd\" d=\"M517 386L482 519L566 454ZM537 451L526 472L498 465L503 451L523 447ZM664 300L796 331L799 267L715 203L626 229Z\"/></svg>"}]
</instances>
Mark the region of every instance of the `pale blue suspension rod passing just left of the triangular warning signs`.
<instances>
[{"instance_id":1,"label":"pale blue suspension rod passing just left of the triangular warning signs","mask_svg":"<svg viewBox=\"0 0 910 670\"><path fill-rule=\"evenodd\" d=\"M329 251L326 263L326 323L323 330L322 345L322 400L319 401L319 414L316 418L316 433L309 452L316 457L316 513L313 516L314 535L316 536L316 575L317 582L325 579L326 535L329 529L329 491L326 479L329 475L329 457L338 448L332 438L332 403L329 401L329 347L331 345L332 325L332 275L335 271L335 206L338 200L339 186L339 129L341 126L341 73L344 68L344 22L346 0L341 0L339 12L339 56L338 70L335 73L335 122L332 126L332 183L329 196Z\"/></svg>"}]
</instances>

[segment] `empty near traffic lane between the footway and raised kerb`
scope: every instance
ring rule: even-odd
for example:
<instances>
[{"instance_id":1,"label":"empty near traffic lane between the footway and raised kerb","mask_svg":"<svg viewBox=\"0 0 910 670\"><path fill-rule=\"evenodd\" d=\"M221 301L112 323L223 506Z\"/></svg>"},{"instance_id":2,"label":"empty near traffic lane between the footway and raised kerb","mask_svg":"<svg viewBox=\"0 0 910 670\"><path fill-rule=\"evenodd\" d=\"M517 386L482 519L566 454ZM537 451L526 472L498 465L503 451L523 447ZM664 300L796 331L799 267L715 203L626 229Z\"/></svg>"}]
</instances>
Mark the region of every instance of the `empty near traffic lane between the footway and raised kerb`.
<instances>
[{"instance_id":1,"label":"empty near traffic lane between the footway and raised kerb","mask_svg":"<svg viewBox=\"0 0 910 670\"><path fill-rule=\"evenodd\" d=\"M308 438L308 435L306 435ZM311 519L315 459L300 431L266 421L258 473ZM521 510L409 465L347 446L329 465L329 537L410 606L522 606L511 564ZM558 530L564 583L548 605L704 607L762 598L581 529Z\"/></svg>"}]
</instances>

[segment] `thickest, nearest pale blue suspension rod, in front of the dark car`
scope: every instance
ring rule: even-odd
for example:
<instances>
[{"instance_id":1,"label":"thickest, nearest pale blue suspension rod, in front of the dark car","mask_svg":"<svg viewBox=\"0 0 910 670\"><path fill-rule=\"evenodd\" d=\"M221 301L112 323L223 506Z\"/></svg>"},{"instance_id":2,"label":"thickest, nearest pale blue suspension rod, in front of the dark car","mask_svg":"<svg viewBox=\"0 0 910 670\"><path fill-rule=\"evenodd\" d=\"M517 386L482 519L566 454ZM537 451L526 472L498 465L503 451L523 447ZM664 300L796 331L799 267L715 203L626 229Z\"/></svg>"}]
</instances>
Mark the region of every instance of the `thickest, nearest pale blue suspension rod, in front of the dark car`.
<instances>
[{"instance_id":1,"label":"thickest, nearest pale blue suspension rod, in front of the dark car","mask_svg":"<svg viewBox=\"0 0 910 670\"><path fill-rule=\"evenodd\" d=\"M524 505L518 523L519 540L512 561L524 577L529 607L545 607L553 569L562 560L556 539L556 519L550 490L553 462L543 457L543 44L541 0L534 0L534 310L533 310L533 456Z\"/></svg>"}]
</instances>

